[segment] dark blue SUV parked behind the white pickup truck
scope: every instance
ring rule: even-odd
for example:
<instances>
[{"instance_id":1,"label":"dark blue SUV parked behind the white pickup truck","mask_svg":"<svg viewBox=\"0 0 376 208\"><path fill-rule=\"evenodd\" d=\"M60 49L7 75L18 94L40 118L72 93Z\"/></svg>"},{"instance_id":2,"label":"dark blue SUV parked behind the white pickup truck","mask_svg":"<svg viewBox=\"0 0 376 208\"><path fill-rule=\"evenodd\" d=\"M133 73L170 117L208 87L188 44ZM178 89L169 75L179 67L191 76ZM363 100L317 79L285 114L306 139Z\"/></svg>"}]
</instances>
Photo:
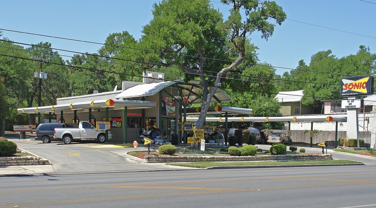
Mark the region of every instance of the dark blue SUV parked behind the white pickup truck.
<instances>
[{"instance_id":1,"label":"dark blue SUV parked behind the white pickup truck","mask_svg":"<svg viewBox=\"0 0 376 208\"><path fill-rule=\"evenodd\" d=\"M43 143L50 143L53 140L53 130L55 128L74 128L71 124L66 123L43 123L39 124L35 130L35 140L41 140ZM57 140L56 140L57 141Z\"/></svg>"}]
</instances>

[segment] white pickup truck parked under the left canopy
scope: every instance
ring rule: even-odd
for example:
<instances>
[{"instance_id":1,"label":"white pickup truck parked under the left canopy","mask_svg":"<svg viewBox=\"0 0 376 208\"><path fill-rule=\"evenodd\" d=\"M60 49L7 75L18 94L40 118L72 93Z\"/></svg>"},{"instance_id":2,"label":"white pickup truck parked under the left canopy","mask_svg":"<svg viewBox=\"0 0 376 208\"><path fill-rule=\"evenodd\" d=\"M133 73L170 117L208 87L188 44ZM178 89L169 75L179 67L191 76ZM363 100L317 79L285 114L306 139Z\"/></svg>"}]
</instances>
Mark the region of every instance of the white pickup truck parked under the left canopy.
<instances>
[{"instance_id":1,"label":"white pickup truck parked under the left canopy","mask_svg":"<svg viewBox=\"0 0 376 208\"><path fill-rule=\"evenodd\" d=\"M97 130L90 122L80 121L78 128L55 128L53 138L62 139L65 144L70 144L73 141L88 140L105 142L106 134L104 130ZM110 130L108 131L108 139L112 139Z\"/></svg>"}]
</instances>

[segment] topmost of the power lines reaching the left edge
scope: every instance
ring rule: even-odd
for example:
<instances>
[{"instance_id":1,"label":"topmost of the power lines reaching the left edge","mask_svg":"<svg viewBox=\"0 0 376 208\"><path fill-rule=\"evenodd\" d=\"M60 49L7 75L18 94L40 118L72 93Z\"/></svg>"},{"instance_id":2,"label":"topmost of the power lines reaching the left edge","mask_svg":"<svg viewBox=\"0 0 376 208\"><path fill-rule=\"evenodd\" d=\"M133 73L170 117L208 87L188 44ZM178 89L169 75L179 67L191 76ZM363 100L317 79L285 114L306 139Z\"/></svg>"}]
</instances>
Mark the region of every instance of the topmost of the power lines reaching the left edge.
<instances>
[{"instance_id":1,"label":"topmost of the power lines reaching the left edge","mask_svg":"<svg viewBox=\"0 0 376 208\"><path fill-rule=\"evenodd\" d=\"M86 41L86 40L77 40L77 39L70 39L70 38L65 38L65 37L57 37L57 36L49 36L49 35L36 34L36 33L28 33L28 32L16 31L16 30L7 30L7 29L3 29L3 28L0 28L0 30L11 31L11 32L16 32L16 33L32 34L32 35L43 36L43 37L53 37L53 38L58 38L58 39L73 40L73 41L78 41L78 42L94 43L94 44L106 45L106 46L112 46L112 47L115 46L115 45L109 45L109 44L106 44L106 43L97 43L97 42L91 42L91 41ZM15 42L15 43L17 43L17 42ZM22 44L22 43L19 43L19 44ZM25 45L28 45L28 44L25 44ZM192 55L174 54L174 53L170 53L170 52L153 51L153 50L148 50L148 49L132 48L132 47L127 47L127 46L116 45L116 47L150 51L150 52L156 52L156 53L171 54L171 55L181 55L181 56L187 56L187 57L193 57L193 58L202 58L202 57L192 56ZM63 49L60 49L60 50L65 51ZM66 52L70 52L70 51L66 51ZM227 61L227 62L231 62L231 63L235 62L235 61L223 60L223 59L218 59L218 58L208 58L208 57L204 57L204 58L208 59L208 60L215 60L215 61ZM248 64L249 66L252 66L252 65L267 66L267 65L263 65L263 64L254 64L254 63L247 63L247 62L241 62L241 63ZM344 74L331 73L331 72L318 72L318 71L312 71L312 70L293 69L293 68L279 67L279 66L268 66L268 67L274 67L274 68L279 68L279 69L299 70L299 71L305 71L305 72L325 73L325 74L333 74L333 75L344 75ZM344 76L347 76L347 75L344 75Z\"/></svg>"}]
</instances>

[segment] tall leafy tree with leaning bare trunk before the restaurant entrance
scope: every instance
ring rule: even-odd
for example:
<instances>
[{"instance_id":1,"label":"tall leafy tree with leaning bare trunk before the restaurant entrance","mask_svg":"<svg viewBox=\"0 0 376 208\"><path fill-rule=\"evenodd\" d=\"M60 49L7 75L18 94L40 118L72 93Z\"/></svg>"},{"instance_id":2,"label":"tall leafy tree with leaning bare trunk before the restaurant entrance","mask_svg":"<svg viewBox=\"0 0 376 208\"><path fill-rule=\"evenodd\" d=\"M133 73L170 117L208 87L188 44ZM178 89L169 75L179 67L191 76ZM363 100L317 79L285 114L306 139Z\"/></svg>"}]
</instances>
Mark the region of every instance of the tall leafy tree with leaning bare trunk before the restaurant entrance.
<instances>
[{"instance_id":1,"label":"tall leafy tree with leaning bare trunk before the restaurant entrance","mask_svg":"<svg viewBox=\"0 0 376 208\"><path fill-rule=\"evenodd\" d=\"M221 78L237 69L250 50L249 36L259 31L268 39L274 31L275 19L281 24L286 14L274 1L222 0L232 6L227 21L208 0L163 0L154 4L153 19L144 26L140 45L153 51L145 52L143 60L177 66L187 72L185 79L199 77L202 84L202 111L197 128L205 125L210 100ZM241 10L245 11L245 17ZM207 59L207 58L214 58ZM231 61L217 61L231 58Z\"/></svg>"}]
</instances>

